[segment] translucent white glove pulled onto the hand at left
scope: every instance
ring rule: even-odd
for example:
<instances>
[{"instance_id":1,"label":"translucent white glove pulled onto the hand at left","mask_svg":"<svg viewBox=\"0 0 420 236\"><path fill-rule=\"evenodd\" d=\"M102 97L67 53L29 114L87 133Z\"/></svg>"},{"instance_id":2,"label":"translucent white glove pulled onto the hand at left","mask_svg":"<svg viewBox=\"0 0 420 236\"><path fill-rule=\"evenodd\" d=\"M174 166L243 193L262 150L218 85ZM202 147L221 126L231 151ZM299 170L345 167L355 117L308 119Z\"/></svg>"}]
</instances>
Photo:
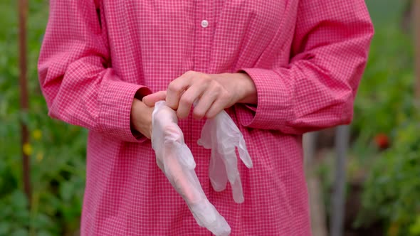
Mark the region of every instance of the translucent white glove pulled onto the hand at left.
<instances>
[{"instance_id":1,"label":"translucent white glove pulled onto the hand at left","mask_svg":"<svg viewBox=\"0 0 420 236\"><path fill-rule=\"evenodd\" d=\"M231 227L207 200L194 168L196 163L178 126L177 113L164 101L152 113L152 148L157 166L187 203L196 222L214 235L227 236Z\"/></svg>"}]
</instances>

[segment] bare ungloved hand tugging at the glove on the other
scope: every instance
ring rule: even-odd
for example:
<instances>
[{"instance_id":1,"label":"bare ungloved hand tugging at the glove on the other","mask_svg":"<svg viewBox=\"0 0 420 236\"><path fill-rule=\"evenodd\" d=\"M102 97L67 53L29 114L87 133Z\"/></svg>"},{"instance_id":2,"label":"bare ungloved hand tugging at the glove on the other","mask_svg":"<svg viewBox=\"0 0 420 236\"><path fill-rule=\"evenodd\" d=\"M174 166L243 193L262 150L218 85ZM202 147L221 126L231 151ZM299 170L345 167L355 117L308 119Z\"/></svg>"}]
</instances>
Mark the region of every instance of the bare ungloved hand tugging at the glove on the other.
<instances>
[{"instance_id":1,"label":"bare ungloved hand tugging at the glove on the other","mask_svg":"<svg viewBox=\"0 0 420 236\"><path fill-rule=\"evenodd\" d=\"M167 106L177 111L179 119L188 117L196 100L193 117L213 118L223 109L237 102L256 104L256 86L246 73L205 74L194 71L184 73L169 83L167 91L143 97L152 107L155 102L166 100Z\"/></svg>"}]
</instances>

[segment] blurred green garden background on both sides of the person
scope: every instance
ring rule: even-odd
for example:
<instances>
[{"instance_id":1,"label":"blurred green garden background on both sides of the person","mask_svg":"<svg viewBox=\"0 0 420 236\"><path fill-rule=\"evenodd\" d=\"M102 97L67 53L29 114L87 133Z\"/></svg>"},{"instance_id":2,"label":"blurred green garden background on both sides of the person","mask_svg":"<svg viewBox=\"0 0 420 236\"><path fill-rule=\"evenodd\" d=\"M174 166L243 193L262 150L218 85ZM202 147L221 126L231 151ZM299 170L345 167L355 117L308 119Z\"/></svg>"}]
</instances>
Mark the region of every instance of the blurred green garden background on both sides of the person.
<instances>
[{"instance_id":1,"label":"blurred green garden background on both sides of the person","mask_svg":"<svg viewBox=\"0 0 420 236\"><path fill-rule=\"evenodd\" d=\"M342 235L420 235L420 113L414 89L414 30L420 21L411 23L409 0L366 2L376 33L350 127ZM46 0L28 0L29 109L21 111L17 3L0 1L0 235L77 235L87 132L47 116L36 73ZM23 145L20 122L29 130ZM333 136L333 129L319 132L310 167L320 181L325 229L335 178ZM31 200L23 186L22 153L31 162Z\"/></svg>"}]
</instances>

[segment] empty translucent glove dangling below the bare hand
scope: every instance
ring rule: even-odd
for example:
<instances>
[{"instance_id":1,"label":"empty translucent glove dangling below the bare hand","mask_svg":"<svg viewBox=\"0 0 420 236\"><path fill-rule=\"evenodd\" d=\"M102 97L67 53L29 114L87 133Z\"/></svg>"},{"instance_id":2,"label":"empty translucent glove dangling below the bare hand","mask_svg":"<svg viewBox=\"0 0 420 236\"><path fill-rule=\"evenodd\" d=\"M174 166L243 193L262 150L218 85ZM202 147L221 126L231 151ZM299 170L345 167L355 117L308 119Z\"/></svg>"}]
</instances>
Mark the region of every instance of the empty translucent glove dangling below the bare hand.
<instances>
[{"instance_id":1,"label":"empty translucent glove dangling below the bare hand","mask_svg":"<svg viewBox=\"0 0 420 236\"><path fill-rule=\"evenodd\" d=\"M246 167L252 168L252 161L246 150L243 135L229 114L222 111L216 117L207 119L201 129L198 144L205 149L211 149L209 177L214 191L224 191L229 180L233 200L236 203L243 203L241 176L239 176L235 149L238 148L239 157Z\"/></svg>"}]
</instances>

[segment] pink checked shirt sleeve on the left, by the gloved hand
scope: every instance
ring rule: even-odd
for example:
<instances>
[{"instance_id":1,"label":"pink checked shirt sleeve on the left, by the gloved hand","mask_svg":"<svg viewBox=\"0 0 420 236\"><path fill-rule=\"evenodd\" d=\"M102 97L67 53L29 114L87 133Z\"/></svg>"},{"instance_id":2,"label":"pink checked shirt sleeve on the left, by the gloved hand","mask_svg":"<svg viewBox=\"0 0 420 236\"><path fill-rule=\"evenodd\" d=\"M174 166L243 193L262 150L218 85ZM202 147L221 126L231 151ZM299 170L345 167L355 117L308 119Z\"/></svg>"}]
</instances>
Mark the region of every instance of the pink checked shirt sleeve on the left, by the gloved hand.
<instances>
[{"instance_id":1,"label":"pink checked shirt sleeve on the left, by the gloved hand","mask_svg":"<svg viewBox=\"0 0 420 236\"><path fill-rule=\"evenodd\" d=\"M93 0L50 1L38 60L48 114L122 141L144 141L130 128L133 98L150 90L120 80L110 66L106 24Z\"/></svg>"}]
</instances>

